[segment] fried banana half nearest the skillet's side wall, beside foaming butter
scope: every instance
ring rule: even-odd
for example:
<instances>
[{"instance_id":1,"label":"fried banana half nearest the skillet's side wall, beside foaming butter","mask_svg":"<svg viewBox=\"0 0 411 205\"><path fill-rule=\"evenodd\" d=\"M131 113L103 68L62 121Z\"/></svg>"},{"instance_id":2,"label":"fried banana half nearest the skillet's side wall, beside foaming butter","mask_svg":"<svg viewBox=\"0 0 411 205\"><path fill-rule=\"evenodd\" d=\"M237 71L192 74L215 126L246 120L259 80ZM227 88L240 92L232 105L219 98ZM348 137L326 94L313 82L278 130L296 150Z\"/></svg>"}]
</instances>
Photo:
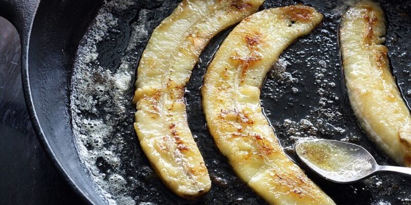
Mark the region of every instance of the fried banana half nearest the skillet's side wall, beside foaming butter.
<instances>
[{"instance_id":1,"label":"fried banana half nearest the skillet's side wall, beside foaming butter","mask_svg":"<svg viewBox=\"0 0 411 205\"><path fill-rule=\"evenodd\" d=\"M263 0L184 0L154 30L142 54L134 127L154 170L181 197L195 198L211 187L187 123L185 84L209 40L261 4Z\"/></svg>"}]
</instances>

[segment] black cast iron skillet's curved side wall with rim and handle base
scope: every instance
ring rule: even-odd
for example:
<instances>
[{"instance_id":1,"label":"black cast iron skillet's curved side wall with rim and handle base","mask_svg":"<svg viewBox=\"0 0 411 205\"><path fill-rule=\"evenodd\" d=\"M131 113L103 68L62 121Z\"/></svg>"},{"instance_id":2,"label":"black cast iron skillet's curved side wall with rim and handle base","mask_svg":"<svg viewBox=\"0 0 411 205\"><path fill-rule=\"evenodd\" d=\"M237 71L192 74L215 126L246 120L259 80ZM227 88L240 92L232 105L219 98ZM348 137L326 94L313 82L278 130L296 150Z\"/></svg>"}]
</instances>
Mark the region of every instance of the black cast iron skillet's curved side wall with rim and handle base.
<instances>
[{"instance_id":1,"label":"black cast iron skillet's curved side wall with rim and handle base","mask_svg":"<svg viewBox=\"0 0 411 205\"><path fill-rule=\"evenodd\" d=\"M0 15L20 34L23 86L33 127L64 178L85 202L92 204L104 202L80 165L73 144L67 68L100 4L95 0L0 1Z\"/></svg>"}]
</instances>

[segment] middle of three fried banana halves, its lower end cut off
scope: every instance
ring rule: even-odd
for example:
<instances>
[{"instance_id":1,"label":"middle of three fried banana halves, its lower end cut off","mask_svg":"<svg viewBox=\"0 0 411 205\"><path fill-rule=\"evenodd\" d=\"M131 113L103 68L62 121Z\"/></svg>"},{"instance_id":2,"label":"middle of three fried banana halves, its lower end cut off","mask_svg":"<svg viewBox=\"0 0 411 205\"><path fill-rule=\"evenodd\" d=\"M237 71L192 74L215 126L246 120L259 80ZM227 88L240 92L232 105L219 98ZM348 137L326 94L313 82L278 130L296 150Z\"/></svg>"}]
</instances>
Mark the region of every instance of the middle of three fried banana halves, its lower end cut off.
<instances>
[{"instance_id":1,"label":"middle of three fried banana halves, its lower end cut off","mask_svg":"<svg viewBox=\"0 0 411 205\"><path fill-rule=\"evenodd\" d=\"M334 204L286 156L259 100L279 55L322 19L308 6L255 13L224 40L204 77L202 104L217 147L237 175L271 204Z\"/></svg>"}]
</instances>

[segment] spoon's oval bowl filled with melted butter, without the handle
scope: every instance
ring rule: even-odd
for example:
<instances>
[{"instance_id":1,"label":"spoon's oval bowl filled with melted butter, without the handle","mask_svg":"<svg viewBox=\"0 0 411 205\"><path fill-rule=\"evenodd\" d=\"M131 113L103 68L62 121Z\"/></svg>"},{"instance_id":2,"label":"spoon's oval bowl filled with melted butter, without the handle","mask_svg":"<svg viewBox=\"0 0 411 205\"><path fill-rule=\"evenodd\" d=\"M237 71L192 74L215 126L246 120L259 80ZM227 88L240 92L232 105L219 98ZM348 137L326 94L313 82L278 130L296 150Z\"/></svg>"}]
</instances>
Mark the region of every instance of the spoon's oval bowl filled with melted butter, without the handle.
<instances>
[{"instance_id":1,"label":"spoon's oval bowl filled with melted butter, without the handle","mask_svg":"<svg viewBox=\"0 0 411 205\"><path fill-rule=\"evenodd\" d=\"M372 168L366 159L356 155L358 149L336 146L327 141L307 141L297 147L297 152L312 165L331 177L355 179Z\"/></svg>"}]
</instances>

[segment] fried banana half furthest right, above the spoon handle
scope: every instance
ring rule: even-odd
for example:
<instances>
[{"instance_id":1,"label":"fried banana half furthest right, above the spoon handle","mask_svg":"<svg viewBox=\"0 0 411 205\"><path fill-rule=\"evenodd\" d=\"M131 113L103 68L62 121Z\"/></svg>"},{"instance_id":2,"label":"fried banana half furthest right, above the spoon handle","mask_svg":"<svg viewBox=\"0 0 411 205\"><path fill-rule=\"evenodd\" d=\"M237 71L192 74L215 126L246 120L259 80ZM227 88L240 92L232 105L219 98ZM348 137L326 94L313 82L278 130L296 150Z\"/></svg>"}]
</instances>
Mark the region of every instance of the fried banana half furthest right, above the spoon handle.
<instances>
[{"instance_id":1,"label":"fried banana half furthest right, above the spoon handle","mask_svg":"<svg viewBox=\"0 0 411 205\"><path fill-rule=\"evenodd\" d=\"M344 15L340 45L351 107L368 136L391 158L411 164L411 115L390 72L381 7L360 1Z\"/></svg>"}]
</instances>

